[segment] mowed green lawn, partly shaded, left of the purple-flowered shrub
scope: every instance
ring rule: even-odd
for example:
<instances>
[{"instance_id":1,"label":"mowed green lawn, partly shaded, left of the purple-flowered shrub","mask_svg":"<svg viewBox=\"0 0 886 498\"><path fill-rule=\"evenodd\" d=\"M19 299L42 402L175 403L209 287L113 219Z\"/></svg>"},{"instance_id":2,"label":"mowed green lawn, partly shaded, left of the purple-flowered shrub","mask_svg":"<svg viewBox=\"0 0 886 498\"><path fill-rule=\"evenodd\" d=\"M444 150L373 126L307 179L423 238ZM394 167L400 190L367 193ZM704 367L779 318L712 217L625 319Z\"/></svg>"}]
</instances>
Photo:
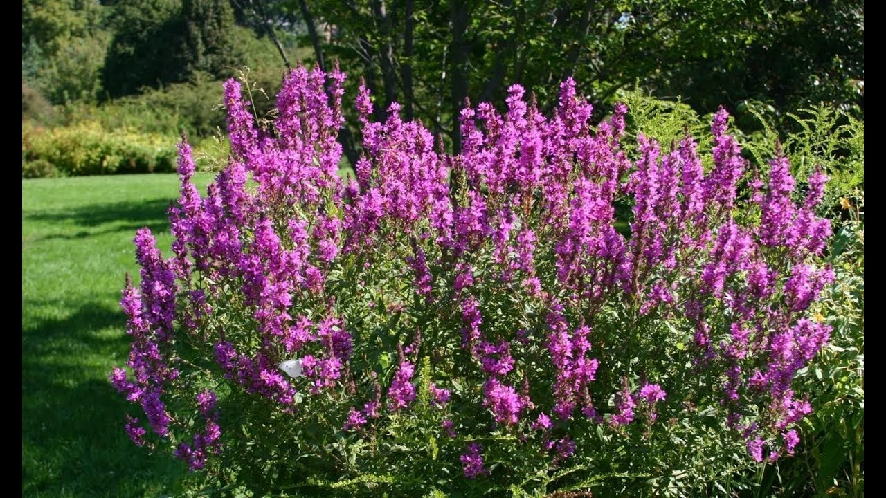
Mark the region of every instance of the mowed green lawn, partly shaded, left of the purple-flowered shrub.
<instances>
[{"instance_id":1,"label":"mowed green lawn, partly shaded, left of the purple-flowered shrub","mask_svg":"<svg viewBox=\"0 0 886 498\"><path fill-rule=\"evenodd\" d=\"M22 495L176 494L183 465L128 440L132 408L107 376L127 361L117 301L124 275L138 278L134 232L149 227L168 254L177 191L175 175L22 180Z\"/></svg>"}]
</instances>

